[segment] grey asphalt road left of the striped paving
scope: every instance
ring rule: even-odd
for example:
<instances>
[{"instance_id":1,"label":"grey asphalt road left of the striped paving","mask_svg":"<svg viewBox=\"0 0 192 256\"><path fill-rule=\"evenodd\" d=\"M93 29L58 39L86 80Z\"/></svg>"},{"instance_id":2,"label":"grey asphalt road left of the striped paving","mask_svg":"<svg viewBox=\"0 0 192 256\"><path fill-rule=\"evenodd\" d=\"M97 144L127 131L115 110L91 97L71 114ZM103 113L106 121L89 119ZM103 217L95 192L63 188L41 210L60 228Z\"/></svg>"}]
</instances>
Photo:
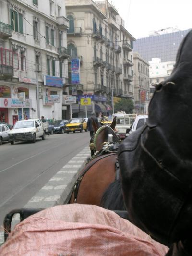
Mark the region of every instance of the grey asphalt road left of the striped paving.
<instances>
[{"instance_id":1,"label":"grey asphalt road left of the striped paving","mask_svg":"<svg viewBox=\"0 0 192 256\"><path fill-rule=\"evenodd\" d=\"M10 210L23 207L90 140L89 132L53 134L36 143L0 146L0 225Z\"/></svg>"}]
</instances>

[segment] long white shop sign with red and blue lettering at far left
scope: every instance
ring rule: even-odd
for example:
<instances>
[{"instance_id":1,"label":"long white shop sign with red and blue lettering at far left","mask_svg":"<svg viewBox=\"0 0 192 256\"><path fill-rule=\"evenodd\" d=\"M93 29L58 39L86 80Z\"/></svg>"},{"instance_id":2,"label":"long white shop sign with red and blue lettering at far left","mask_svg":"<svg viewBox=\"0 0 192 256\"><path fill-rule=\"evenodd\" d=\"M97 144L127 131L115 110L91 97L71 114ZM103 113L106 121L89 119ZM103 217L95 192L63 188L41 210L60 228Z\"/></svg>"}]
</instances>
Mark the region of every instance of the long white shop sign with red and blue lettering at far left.
<instances>
[{"instance_id":1,"label":"long white shop sign with red and blue lettering at far left","mask_svg":"<svg viewBox=\"0 0 192 256\"><path fill-rule=\"evenodd\" d=\"M18 98L0 98L0 108L30 108L31 103L31 99L22 103Z\"/></svg>"}]
</instances>

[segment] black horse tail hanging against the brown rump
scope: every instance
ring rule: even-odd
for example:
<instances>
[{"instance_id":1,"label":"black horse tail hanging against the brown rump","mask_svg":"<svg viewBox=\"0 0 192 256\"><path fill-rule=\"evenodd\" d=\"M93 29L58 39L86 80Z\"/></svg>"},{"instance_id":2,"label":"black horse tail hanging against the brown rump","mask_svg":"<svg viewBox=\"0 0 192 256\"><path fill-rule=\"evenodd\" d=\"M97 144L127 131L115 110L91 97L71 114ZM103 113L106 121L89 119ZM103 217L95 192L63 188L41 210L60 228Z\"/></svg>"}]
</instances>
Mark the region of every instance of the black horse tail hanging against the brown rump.
<instances>
[{"instance_id":1,"label":"black horse tail hanging against the brown rump","mask_svg":"<svg viewBox=\"0 0 192 256\"><path fill-rule=\"evenodd\" d=\"M108 186L101 198L100 206L109 210L126 210L120 179Z\"/></svg>"}]
</instances>

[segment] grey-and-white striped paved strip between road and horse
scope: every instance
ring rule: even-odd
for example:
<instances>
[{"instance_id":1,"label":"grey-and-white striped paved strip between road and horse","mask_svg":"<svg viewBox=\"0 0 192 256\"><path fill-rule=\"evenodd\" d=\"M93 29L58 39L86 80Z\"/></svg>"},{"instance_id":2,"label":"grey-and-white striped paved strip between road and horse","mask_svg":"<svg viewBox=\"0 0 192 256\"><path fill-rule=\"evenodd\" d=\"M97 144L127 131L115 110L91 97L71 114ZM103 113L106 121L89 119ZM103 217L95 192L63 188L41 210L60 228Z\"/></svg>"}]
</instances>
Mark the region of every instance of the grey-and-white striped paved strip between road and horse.
<instances>
[{"instance_id":1,"label":"grey-and-white striped paved strip between road and horse","mask_svg":"<svg viewBox=\"0 0 192 256\"><path fill-rule=\"evenodd\" d=\"M71 196L72 188L78 173L84 168L84 163L90 156L89 146L74 156L34 195L24 208L48 208L66 204ZM12 228L19 222L16 214L12 220ZM4 242L4 235L0 228L0 244Z\"/></svg>"}]
</instances>

